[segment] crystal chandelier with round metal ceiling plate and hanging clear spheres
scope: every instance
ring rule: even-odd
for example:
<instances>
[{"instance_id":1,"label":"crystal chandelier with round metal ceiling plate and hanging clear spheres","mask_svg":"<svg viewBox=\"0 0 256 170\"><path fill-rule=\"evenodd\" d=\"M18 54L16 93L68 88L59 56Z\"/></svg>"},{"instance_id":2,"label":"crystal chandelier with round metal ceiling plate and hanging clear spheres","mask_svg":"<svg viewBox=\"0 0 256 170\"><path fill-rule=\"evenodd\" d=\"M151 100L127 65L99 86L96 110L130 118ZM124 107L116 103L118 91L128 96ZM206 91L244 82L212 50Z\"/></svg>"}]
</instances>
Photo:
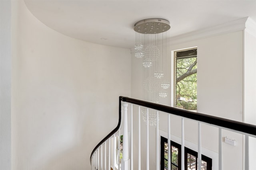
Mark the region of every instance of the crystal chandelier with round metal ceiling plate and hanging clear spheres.
<instances>
[{"instance_id":1,"label":"crystal chandelier with round metal ceiling plate and hanging clear spheres","mask_svg":"<svg viewBox=\"0 0 256 170\"><path fill-rule=\"evenodd\" d=\"M171 71L169 29L169 21L160 18L141 20L134 25L135 57L143 59L144 98L148 102L159 103L160 98L168 96ZM144 121L145 116L144 113ZM149 109L149 124L156 125L156 113L152 109Z\"/></svg>"}]
</instances>

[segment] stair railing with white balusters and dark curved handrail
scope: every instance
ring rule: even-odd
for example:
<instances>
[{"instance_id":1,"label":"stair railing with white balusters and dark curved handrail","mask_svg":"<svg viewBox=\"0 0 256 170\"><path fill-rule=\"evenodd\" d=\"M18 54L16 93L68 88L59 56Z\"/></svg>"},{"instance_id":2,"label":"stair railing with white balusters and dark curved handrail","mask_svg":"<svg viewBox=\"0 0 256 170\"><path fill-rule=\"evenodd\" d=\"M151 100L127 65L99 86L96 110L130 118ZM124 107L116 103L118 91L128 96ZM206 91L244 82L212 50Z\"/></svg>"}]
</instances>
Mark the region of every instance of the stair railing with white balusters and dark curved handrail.
<instances>
[{"instance_id":1,"label":"stair railing with white balusters and dark curved handrail","mask_svg":"<svg viewBox=\"0 0 256 170\"><path fill-rule=\"evenodd\" d=\"M138 106L138 113L133 115L133 104ZM128 105L130 105L130 120L128 120ZM202 142L201 142L201 124L207 124L214 127L218 127L218 170L223 169L222 162L222 129L233 131L244 135L244 170L250 170L249 163L249 137L256 139L256 125L248 123L242 123L229 119L224 119L216 116L206 115L202 113L196 113L184 109L178 109L175 107L164 106L160 104L154 104L151 102L145 102L142 100L136 100L128 97L119 97L119 121L117 127L109 133L98 145L93 149L90 156L92 170L141 170L141 131L140 131L140 113L141 107L146 107L146 161L143 167L146 170L160 169L160 155L159 155L159 123L156 121L156 154L155 167L150 167L150 149L149 149L149 109L156 111L156 120L159 119L159 113L165 113L168 115L168 141L171 140L170 133L170 115L176 115L181 117L181 170L184 170L184 119L190 119L198 122L198 170L201 170L201 154L202 154ZM123 116L122 116L123 114ZM138 141L133 141L133 116L138 116ZM121 119L121 117L123 117ZM130 131L128 130L128 122L130 121ZM121 126L122 124L122 126ZM122 128L121 128L122 127ZM122 152L120 151L120 136L123 135L122 140ZM138 145L138 159L134 160L134 142ZM255 144L256 145L256 144ZM130 149L129 149L130 146ZM103 151L104 147L104 151ZM107 149L108 148L108 149ZM171 153L170 142L168 142L168 153ZM120 155L122 159L120 161ZM138 164L138 167L134 167L134 161ZM121 163L120 163L121 162ZM171 170L171 158L168 154L168 170ZM144 169L144 168L143 168Z\"/></svg>"}]
</instances>

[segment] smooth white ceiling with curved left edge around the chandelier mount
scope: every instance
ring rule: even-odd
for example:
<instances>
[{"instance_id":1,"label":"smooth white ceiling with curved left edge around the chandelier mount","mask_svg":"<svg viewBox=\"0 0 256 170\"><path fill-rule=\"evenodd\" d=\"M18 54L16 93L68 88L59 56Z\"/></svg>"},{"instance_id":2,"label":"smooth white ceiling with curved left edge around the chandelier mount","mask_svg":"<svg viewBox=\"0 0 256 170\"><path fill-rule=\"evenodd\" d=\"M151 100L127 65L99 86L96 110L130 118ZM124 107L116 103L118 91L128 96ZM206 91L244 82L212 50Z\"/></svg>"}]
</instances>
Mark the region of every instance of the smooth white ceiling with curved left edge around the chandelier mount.
<instances>
[{"instance_id":1,"label":"smooth white ceiling with curved left edge around the chandelier mount","mask_svg":"<svg viewBox=\"0 0 256 170\"><path fill-rule=\"evenodd\" d=\"M134 47L134 23L170 21L170 37L249 16L256 0L25 0L32 14L70 37L116 47Z\"/></svg>"}]
</instances>

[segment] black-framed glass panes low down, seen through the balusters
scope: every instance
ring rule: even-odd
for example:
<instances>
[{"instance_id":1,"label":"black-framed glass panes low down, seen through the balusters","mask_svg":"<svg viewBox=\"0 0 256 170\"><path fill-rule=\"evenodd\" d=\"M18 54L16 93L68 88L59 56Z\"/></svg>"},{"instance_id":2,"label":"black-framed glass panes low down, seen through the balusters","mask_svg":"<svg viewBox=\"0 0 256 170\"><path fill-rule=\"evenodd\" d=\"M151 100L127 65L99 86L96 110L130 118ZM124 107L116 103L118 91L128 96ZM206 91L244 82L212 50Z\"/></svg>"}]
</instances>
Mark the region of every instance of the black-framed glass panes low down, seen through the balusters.
<instances>
[{"instance_id":1,"label":"black-framed glass panes low down, seen through the balusters","mask_svg":"<svg viewBox=\"0 0 256 170\"><path fill-rule=\"evenodd\" d=\"M181 145L171 142L171 170L181 170ZM185 170L197 170L198 153L185 147ZM202 170L212 170L212 159L202 155ZM161 137L161 170L168 170L168 140Z\"/></svg>"}]
</instances>

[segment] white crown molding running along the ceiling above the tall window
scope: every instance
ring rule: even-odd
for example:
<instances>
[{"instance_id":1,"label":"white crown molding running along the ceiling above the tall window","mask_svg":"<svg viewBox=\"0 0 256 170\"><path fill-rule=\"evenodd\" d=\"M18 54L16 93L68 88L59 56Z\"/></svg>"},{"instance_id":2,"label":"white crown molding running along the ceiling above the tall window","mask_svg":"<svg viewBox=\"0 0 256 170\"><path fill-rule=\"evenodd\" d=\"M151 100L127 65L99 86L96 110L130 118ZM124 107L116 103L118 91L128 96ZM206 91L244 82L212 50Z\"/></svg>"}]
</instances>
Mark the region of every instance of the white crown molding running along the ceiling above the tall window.
<instances>
[{"instance_id":1,"label":"white crown molding running along the ceiling above the tall window","mask_svg":"<svg viewBox=\"0 0 256 170\"><path fill-rule=\"evenodd\" d=\"M246 28L247 20L248 20L248 17L245 17L239 20L223 23L220 25L215 25L213 27L200 29L198 31L192 31L182 35L177 35L175 37L170 37L170 45L186 43L188 41L195 41L198 39L204 39L204 38L231 33L235 31L242 31Z\"/></svg>"}]
</instances>

